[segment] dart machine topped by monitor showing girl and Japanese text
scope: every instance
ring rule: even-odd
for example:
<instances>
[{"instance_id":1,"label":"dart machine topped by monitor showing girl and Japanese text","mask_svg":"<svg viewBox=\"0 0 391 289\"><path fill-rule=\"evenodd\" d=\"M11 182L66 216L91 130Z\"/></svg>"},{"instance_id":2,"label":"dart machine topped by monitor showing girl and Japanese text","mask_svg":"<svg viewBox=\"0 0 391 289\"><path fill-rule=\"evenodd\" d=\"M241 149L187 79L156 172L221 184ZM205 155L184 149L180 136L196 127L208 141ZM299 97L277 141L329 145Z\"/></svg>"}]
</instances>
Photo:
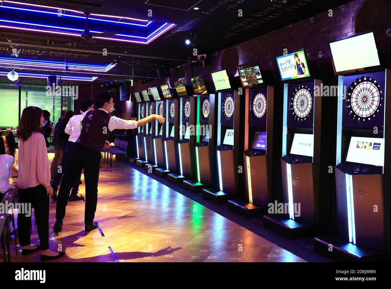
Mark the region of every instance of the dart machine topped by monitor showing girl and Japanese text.
<instances>
[{"instance_id":1,"label":"dart machine topped by monitor showing girl and Japanese text","mask_svg":"<svg viewBox=\"0 0 391 289\"><path fill-rule=\"evenodd\" d=\"M283 203L287 211L264 216L263 224L297 239L317 230L323 94L320 80L304 80L311 77L304 50L276 60L282 81L291 81L284 84L281 158Z\"/></svg>"}]
</instances>

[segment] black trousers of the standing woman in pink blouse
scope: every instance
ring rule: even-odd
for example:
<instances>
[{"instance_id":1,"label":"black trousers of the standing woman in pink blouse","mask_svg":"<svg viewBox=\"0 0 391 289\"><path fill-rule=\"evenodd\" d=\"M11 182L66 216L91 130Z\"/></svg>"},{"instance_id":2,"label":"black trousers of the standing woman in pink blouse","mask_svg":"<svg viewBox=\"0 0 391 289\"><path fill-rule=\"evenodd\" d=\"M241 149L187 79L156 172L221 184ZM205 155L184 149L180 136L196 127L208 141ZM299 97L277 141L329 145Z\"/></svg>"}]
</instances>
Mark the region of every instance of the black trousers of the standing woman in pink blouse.
<instances>
[{"instance_id":1,"label":"black trousers of the standing woman in pink blouse","mask_svg":"<svg viewBox=\"0 0 391 289\"><path fill-rule=\"evenodd\" d=\"M49 249L49 197L46 194L46 189L43 185L19 189L19 203L24 203L25 208L29 203L34 207L41 250ZM31 214L28 217L27 214L21 214L21 212L19 212L18 233L20 246L30 244L30 228Z\"/></svg>"}]
</instances>

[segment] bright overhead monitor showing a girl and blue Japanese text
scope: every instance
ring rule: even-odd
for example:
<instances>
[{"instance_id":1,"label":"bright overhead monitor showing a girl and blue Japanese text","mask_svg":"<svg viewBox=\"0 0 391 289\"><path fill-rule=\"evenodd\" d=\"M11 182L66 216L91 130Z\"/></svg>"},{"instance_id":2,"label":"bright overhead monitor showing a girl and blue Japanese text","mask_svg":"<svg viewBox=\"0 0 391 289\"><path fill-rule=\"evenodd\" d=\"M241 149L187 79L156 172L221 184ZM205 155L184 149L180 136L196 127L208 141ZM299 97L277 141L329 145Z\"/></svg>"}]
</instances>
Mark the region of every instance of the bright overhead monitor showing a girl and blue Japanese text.
<instances>
[{"instance_id":1,"label":"bright overhead monitor showing a girl and blue Japanese text","mask_svg":"<svg viewBox=\"0 0 391 289\"><path fill-rule=\"evenodd\" d=\"M310 76L304 50L278 56L276 60L283 81Z\"/></svg>"}]
</instances>

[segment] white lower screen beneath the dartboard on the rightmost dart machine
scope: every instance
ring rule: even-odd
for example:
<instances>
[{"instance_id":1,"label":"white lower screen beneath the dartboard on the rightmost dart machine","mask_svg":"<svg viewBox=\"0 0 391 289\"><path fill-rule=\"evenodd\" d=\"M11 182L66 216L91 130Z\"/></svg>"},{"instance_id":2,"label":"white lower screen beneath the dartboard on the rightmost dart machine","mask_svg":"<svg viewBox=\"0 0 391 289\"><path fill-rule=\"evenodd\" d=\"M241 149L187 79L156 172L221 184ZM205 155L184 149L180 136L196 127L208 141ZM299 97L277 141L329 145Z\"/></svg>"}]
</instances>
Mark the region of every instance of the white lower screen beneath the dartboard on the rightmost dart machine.
<instances>
[{"instance_id":1,"label":"white lower screen beneath the dartboard on the rightmost dart machine","mask_svg":"<svg viewBox=\"0 0 391 289\"><path fill-rule=\"evenodd\" d=\"M352 136L346 162L384 166L384 138Z\"/></svg>"}]
</instances>

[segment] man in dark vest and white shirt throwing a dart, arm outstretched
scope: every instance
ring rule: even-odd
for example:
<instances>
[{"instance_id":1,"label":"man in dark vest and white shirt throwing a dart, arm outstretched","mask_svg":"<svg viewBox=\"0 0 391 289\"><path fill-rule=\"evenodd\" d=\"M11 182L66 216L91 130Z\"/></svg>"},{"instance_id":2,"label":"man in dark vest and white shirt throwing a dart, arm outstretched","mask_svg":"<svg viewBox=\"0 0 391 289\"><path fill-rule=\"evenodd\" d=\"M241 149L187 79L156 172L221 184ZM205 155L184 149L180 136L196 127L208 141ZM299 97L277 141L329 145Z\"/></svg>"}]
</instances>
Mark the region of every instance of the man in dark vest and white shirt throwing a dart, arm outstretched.
<instances>
[{"instance_id":1,"label":"man in dark vest and white shirt throwing a dart, arm outstretched","mask_svg":"<svg viewBox=\"0 0 391 289\"><path fill-rule=\"evenodd\" d=\"M98 108L98 109L96 109ZM85 111L81 121L81 133L76 140L72 160L69 169L65 172L57 197L56 223L53 226L55 232L60 232L63 227L65 207L68 203L70 190L79 178L81 169L84 171L86 186L86 203L84 210L84 223L86 232L98 228L98 222L94 222L98 201L98 180L101 151L103 147L109 147L107 141L110 131L114 129L135 129L143 126L151 120L165 122L160 115L149 115L138 121L124 120L118 117L110 117L114 110L114 102L111 93L102 92L96 98L96 110Z\"/></svg>"}]
</instances>

